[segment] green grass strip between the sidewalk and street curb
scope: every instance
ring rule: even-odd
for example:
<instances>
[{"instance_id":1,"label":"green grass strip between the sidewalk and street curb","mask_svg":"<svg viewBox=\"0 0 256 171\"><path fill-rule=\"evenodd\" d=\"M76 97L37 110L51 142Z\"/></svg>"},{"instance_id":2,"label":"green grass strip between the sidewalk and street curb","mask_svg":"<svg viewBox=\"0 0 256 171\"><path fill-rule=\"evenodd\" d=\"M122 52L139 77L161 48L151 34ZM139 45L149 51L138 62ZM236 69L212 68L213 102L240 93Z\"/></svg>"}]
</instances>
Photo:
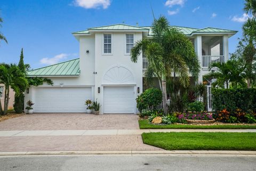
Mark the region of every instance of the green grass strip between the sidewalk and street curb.
<instances>
[{"instance_id":1,"label":"green grass strip between the sidewalk and street curb","mask_svg":"<svg viewBox=\"0 0 256 171\"><path fill-rule=\"evenodd\" d=\"M142 139L165 150L256 150L256 133L143 133Z\"/></svg>"}]
</instances>

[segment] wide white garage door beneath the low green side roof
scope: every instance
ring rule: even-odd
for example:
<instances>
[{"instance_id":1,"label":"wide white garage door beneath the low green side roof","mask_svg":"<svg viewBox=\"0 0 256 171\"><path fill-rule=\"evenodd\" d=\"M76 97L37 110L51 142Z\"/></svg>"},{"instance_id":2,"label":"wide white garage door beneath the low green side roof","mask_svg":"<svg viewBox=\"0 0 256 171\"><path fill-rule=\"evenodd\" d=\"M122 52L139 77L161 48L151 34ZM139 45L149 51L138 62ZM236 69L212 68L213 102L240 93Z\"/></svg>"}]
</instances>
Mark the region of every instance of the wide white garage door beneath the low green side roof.
<instances>
[{"instance_id":1,"label":"wide white garage door beneath the low green side roof","mask_svg":"<svg viewBox=\"0 0 256 171\"><path fill-rule=\"evenodd\" d=\"M91 87L35 88L34 112L85 112L92 99Z\"/></svg>"}]
</instances>

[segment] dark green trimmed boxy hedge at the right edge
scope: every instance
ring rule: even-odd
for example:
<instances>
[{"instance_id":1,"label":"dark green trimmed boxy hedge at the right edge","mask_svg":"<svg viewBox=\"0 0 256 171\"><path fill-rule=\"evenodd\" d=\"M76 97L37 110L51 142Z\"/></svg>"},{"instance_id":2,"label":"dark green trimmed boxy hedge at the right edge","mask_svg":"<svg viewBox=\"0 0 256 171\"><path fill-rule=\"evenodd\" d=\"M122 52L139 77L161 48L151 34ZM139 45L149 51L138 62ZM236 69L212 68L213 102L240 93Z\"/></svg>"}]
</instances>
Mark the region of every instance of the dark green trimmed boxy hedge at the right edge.
<instances>
[{"instance_id":1,"label":"dark green trimmed boxy hedge at the right edge","mask_svg":"<svg viewBox=\"0 0 256 171\"><path fill-rule=\"evenodd\" d=\"M234 113L236 109L244 112L256 111L256 88L222 89L212 88L213 110L227 109Z\"/></svg>"}]
</instances>

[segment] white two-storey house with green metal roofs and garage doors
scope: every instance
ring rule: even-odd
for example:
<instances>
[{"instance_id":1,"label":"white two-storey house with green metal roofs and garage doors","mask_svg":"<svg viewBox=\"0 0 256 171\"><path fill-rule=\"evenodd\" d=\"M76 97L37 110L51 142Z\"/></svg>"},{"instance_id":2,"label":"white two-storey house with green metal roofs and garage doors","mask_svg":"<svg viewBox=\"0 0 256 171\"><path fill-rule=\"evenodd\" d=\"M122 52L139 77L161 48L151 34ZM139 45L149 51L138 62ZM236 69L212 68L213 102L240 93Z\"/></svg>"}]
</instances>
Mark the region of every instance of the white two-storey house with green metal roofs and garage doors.
<instances>
[{"instance_id":1,"label":"white two-storey house with green metal roofs and garage doors","mask_svg":"<svg viewBox=\"0 0 256 171\"><path fill-rule=\"evenodd\" d=\"M177 28L195 46L202 66L199 82L212 62L228 60L228 38L237 31ZM100 113L137 113L135 99L143 91L147 59L141 54L137 63L131 62L130 50L138 40L152 36L150 27L117 24L73 35L79 42L79 58L29 71L30 77L47 77L54 85L30 87L25 102L33 101L35 112L84 112L85 100L97 99Z\"/></svg>"}]
</instances>

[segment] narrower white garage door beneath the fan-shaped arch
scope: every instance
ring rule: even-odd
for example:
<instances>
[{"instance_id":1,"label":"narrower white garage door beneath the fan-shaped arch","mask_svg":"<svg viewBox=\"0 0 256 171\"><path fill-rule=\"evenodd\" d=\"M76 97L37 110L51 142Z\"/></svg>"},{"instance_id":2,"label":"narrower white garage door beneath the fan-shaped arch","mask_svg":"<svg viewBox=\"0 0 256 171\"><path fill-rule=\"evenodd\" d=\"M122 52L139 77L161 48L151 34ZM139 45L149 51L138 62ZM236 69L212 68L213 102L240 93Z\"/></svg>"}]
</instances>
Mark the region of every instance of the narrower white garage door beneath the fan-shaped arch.
<instances>
[{"instance_id":1,"label":"narrower white garage door beneath the fan-shaped arch","mask_svg":"<svg viewBox=\"0 0 256 171\"><path fill-rule=\"evenodd\" d=\"M134 113L134 87L104 87L104 113Z\"/></svg>"}]
</instances>

